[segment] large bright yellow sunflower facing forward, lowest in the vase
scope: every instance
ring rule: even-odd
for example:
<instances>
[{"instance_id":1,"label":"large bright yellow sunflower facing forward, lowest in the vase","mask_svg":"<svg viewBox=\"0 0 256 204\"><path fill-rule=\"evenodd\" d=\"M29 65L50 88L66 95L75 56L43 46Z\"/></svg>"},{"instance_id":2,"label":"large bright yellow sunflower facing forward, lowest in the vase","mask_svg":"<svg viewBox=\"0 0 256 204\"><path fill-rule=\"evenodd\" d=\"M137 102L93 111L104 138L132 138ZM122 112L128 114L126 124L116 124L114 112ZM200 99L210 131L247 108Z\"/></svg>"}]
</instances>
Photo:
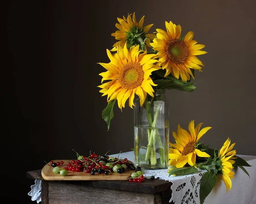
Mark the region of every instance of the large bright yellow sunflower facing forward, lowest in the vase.
<instances>
[{"instance_id":1,"label":"large bright yellow sunflower facing forward, lowest in the vase","mask_svg":"<svg viewBox=\"0 0 256 204\"><path fill-rule=\"evenodd\" d=\"M117 44L117 52L114 55L111 55L108 49L107 54L111 62L99 63L108 70L99 74L102 76L102 81L110 80L98 86L102 88L99 91L103 93L102 96L108 95L108 101L117 99L120 109L125 107L128 98L129 106L133 108L135 94L140 98L140 106L143 105L147 93L154 96L152 86L157 84L153 83L150 75L160 68L153 64L158 62L154 60L157 55L139 51L139 45L132 46L128 50L126 43L123 49Z\"/></svg>"}]
</instances>

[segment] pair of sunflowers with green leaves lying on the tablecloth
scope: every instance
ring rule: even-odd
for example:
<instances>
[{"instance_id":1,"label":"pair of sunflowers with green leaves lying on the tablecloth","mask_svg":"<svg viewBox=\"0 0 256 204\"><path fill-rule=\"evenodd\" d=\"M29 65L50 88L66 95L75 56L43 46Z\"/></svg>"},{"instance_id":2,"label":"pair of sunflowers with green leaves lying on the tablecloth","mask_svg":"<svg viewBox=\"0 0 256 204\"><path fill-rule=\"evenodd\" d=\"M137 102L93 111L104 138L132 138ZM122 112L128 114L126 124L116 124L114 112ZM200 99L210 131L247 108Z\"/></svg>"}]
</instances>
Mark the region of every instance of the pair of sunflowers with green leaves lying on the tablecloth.
<instances>
[{"instance_id":1,"label":"pair of sunflowers with green leaves lying on the tablecloth","mask_svg":"<svg viewBox=\"0 0 256 204\"><path fill-rule=\"evenodd\" d=\"M242 158L235 156L236 150L232 150L235 143L230 145L230 138L227 138L220 150L210 149L208 145L202 144L201 137L212 128L205 127L199 131L202 124L198 124L195 128L194 121L190 121L189 132L182 129L180 125L178 125L177 133L172 132L176 144L170 143L168 167L169 176L186 175L197 172L198 169L208 171L202 176L200 187L201 203L215 186L217 178L221 178L224 181L228 193L232 187L230 178L234 178L235 174L232 171L233 168L240 167L249 175L243 166L250 167ZM184 170L186 173L184 173ZM204 180L211 182L204 182ZM211 184L211 186L208 188L202 186L205 183Z\"/></svg>"}]
</instances>

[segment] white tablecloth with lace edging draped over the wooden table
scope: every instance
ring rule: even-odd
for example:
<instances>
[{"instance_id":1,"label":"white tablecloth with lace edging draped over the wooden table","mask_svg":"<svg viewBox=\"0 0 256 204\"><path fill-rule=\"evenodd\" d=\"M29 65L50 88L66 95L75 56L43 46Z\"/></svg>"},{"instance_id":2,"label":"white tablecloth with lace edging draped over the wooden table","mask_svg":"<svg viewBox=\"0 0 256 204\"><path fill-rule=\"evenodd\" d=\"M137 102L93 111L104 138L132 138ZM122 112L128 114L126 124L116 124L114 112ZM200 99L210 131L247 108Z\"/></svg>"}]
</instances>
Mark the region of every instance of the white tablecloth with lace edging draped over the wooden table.
<instances>
[{"instance_id":1,"label":"white tablecloth with lace edging draped over the wooden table","mask_svg":"<svg viewBox=\"0 0 256 204\"><path fill-rule=\"evenodd\" d=\"M117 157L119 154L109 155ZM244 167L250 174L250 178L241 170L235 170L235 178L232 179L232 189L226 194L226 186L223 181L217 182L212 192L207 196L204 204L256 204L256 156L238 155L246 160L253 167ZM123 152L120 159L128 158L134 162L134 152ZM168 176L166 170L144 170L143 175L150 177L155 175L156 178L172 182L172 195L170 201L175 204L200 204L199 191L201 177L204 170L196 173L182 176ZM32 201L41 201L41 182L36 180L35 185L31 186L28 195L32 196Z\"/></svg>"}]
</instances>

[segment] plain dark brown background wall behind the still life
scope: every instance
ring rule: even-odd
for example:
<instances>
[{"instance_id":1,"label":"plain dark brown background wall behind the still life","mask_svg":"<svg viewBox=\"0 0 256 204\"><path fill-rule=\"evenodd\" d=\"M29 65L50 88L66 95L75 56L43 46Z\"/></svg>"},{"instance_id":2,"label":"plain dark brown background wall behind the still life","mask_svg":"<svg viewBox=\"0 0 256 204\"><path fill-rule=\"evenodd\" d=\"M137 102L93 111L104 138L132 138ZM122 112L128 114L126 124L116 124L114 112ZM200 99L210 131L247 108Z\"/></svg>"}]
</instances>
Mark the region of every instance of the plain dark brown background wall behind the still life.
<instances>
[{"instance_id":1,"label":"plain dark brown background wall behind the still life","mask_svg":"<svg viewBox=\"0 0 256 204\"><path fill-rule=\"evenodd\" d=\"M88 155L133 148L133 110L115 107L107 131L101 118L106 97L96 86L105 71L97 62L109 62L106 49L116 42L116 17L134 11L137 20L145 15L144 25L154 23L151 32L172 20L182 34L191 30L206 45L196 90L167 92L170 132L179 123L187 129L194 119L212 126L203 137L210 147L220 148L230 137L238 154L256 155L255 6L245 0L9 1L3 195L29 203L34 181L26 171L76 158L72 149Z\"/></svg>"}]
</instances>

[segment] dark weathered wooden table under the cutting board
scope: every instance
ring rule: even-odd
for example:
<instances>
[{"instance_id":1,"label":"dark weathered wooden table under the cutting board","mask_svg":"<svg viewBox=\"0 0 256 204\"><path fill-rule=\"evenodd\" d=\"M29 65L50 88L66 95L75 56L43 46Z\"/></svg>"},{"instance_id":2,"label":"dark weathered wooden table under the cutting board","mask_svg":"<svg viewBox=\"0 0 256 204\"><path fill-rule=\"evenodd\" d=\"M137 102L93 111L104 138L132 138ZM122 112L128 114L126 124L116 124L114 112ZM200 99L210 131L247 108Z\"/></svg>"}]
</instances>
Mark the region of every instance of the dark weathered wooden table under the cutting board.
<instances>
[{"instance_id":1,"label":"dark weathered wooden table under the cutting board","mask_svg":"<svg viewBox=\"0 0 256 204\"><path fill-rule=\"evenodd\" d=\"M145 179L129 181L45 181L40 170L27 178L42 181L41 204L167 204L172 182Z\"/></svg>"}]
</instances>

